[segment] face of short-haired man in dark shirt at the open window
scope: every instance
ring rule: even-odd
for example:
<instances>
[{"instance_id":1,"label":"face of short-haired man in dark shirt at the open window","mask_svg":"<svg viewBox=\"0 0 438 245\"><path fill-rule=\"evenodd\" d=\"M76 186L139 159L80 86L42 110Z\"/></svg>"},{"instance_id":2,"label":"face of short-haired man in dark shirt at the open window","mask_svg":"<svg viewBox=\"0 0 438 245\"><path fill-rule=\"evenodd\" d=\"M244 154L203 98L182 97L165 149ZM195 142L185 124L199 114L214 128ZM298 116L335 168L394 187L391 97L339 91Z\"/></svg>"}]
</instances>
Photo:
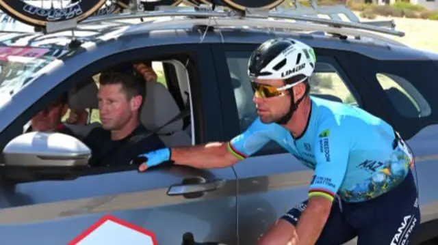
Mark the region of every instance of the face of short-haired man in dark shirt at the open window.
<instances>
[{"instance_id":1,"label":"face of short-haired man in dark shirt at the open window","mask_svg":"<svg viewBox=\"0 0 438 245\"><path fill-rule=\"evenodd\" d=\"M138 100L140 96L128 100L120 84L101 85L97 97L101 123L105 130L122 130L138 110L138 103L134 100Z\"/></svg>"}]
</instances>

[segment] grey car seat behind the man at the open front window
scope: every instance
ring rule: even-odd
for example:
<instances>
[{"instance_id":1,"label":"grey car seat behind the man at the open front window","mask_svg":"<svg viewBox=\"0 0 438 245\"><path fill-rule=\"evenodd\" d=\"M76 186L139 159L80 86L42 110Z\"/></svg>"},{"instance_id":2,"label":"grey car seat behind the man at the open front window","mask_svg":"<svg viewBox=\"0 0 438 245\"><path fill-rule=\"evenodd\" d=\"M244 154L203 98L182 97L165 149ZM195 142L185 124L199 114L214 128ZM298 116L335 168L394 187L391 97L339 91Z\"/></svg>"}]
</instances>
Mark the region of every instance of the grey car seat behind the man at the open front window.
<instances>
[{"instance_id":1,"label":"grey car seat behind the man at the open front window","mask_svg":"<svg viewBox=\"0 0 438 245\"><path fill-rule=\"evenodd\" d=\"M156 82L146 82L146 99L140 111L140 121L148 130L167 124L181 111L172 94ZM168 124L157 132L167 147L192 145L190 136L183 131L183 119Z\"/></svg>"}]
</instances>

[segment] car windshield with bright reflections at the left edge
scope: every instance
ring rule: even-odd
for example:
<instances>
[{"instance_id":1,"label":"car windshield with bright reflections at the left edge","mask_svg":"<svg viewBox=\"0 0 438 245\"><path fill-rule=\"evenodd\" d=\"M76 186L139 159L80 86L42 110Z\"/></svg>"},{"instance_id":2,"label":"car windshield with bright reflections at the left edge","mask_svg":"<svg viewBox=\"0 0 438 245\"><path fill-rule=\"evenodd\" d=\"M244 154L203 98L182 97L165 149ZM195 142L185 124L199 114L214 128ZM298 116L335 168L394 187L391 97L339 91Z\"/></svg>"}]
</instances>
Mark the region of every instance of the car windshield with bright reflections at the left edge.
<instances>
[{"instance_id":1,"label":"car windshield with bright reflections at the left edge","mask_svg":"<svg viewBox=\"0 0 438 245\"><path fill-rule=\"evenodd\" d=\"M36 72L62 53L60 48L0 46L0 96L13 96Z\"/></svg>"}]
</instances>

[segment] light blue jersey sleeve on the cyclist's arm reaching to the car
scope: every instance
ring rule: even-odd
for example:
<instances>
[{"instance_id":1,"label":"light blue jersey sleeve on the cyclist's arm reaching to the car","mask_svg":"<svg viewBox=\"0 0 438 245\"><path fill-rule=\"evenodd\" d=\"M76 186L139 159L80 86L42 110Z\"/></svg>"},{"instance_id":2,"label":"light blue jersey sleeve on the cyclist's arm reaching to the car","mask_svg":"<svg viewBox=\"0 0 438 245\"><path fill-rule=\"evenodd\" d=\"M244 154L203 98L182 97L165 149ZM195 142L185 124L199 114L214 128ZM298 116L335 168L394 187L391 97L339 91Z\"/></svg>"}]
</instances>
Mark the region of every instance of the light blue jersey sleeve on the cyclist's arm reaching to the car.
<instances>
[{"instance_id":1,"label":"light blue jersey sleeve on the cyclist's arm reaching to the car","mask_svg":"<svg viewBox=\"0 0 438 245\"><path fill-rule=\"evenodd\" d=\"M263 124L257 117L248 129L227 143L227 149L239 160L248 158L272 139L276 127L276 124Z\"/></svg>"}]
</instances>

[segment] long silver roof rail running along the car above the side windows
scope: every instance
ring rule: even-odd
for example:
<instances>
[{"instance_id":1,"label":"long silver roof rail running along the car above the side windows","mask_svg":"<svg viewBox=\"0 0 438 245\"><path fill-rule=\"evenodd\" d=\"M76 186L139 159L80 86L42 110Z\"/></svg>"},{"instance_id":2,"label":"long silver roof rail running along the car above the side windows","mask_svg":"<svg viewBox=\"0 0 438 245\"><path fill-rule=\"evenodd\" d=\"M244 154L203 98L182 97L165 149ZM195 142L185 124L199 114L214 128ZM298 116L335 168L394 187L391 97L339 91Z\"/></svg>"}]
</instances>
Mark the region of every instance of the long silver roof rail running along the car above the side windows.
<instances>
[{"instance_id":1,"label":"long silver roof rail running along the car above the side windows","mask_svg":"<svg viewBox=\"0 0 438 245\"><path fill-rule=\"evenodd\" d=\"M146 26L151 30L163 28L168 29L170 27L169 23L155 22L155 23L139 23L139 27ZM359 29L350 28L337 28L326 25L317 25L313 23L293 23L287 22L285 20L270 20L270 19L248 19L248 18L217 18L215 20L210 20L208 18L181 18L172 20L172 25L210 25L211 27L264 27L264 28L279 28L287 30L297 30L297 31L324 31L325 33L339 33L342 35L351 36L361 36L364 38L372 38L374 40L381 40L383 42L388 42L390 44L395 44L397 46L406 46L397 40L387 38L384 35L378 35L369 31L361 31ZM129 32L135 32L136 28L130 29Z\"/></svg>"}]
</instances>

